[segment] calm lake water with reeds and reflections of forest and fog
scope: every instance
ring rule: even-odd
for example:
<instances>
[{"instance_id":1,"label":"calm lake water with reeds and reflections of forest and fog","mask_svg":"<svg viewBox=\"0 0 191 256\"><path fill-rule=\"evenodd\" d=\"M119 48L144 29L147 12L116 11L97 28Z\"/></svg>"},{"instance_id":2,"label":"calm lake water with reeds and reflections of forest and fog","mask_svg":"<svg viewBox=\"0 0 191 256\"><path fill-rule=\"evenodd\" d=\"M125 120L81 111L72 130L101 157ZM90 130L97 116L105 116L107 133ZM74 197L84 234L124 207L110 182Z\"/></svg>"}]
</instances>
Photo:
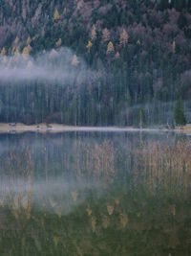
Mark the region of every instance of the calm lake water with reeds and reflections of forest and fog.
<instances>
[{"instance_id":1,"label":"calm lake water with reeds and reflections of forest and fog","mask_svg":"<svg viewBox=\"0 0 191 256\"><path fill-rule=\"evenodd\" d=\"M191 140L0 134L0 255L191 255Z\"/></svg>"}]
</instances>

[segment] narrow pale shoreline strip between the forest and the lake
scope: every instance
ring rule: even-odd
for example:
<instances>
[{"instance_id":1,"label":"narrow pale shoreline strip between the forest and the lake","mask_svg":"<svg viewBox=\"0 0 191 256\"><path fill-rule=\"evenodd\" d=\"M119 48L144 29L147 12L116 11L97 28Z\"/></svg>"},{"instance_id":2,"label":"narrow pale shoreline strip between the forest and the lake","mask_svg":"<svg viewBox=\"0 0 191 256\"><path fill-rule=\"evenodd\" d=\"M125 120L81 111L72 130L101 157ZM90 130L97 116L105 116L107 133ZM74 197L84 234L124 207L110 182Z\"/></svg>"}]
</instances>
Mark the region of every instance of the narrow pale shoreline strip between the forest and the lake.
<instances>
[{"instance_id":1,"label":"narrow pale shoreline strip between the forest and the lake","mask_svg":"<svg viewBox=\"0 0 191 256\"><path fill-rule=\"evenodd\" d=\"M62 132L62 131L175 131L184 134L191 134L191 126L167 129L167 128L133 128L133 127L75 127L60 124L38 124L38 125L24 125L21 123L9 124L0 123L0 133L17 133L17 132Z\"/></svg>"}]
</instances>

